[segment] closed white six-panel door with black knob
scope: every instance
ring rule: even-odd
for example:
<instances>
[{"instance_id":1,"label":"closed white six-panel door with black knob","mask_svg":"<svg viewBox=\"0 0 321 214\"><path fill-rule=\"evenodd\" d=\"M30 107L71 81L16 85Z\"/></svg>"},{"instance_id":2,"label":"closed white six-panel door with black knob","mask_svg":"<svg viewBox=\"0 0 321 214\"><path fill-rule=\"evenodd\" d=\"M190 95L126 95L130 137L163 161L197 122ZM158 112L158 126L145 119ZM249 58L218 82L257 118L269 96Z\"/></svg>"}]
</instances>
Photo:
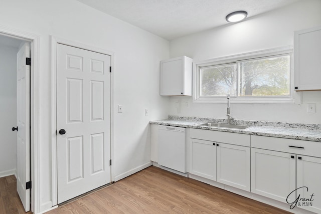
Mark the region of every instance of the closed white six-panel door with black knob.
<instances>
[{"instance_id":1,"label":"closed white six-panel door with black knob","mask_svg":"<svg viewBox=\"0 0 321 214\"><path fill-rule=\"evenodd\" d=\"M110 61L57 44L58 203L111 181Z\"/></svg>"}]
</instances>

